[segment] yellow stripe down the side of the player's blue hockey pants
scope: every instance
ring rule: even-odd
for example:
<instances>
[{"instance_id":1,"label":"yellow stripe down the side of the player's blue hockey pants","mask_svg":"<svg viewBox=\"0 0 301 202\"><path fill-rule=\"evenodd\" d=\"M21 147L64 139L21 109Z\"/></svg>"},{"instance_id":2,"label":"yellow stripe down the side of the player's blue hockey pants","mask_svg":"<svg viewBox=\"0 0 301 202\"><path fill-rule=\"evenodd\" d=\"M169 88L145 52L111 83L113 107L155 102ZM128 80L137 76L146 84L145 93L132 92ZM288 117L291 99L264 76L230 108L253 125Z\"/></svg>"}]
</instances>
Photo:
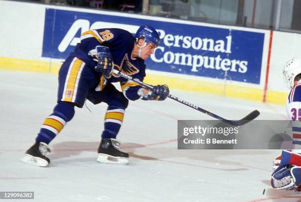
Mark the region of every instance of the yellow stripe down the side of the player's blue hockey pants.
<instances>
[{"instance_id":1,"label":"yellow stripe down the side of the player's blue hockey pants","mask_svg":"<svg viewBox=\"0 0 301 202\"><path fill-rule=\"evenodd\" d=\"M74 64L71 67L71 72L70 72L70 75L68 78L67 88L66 88L66 92L65 92L63 101L67 101L67 102L72 101L76 78L77 78L77 75L78 75L78 72L79 72L79 69L80 69L82 63L83 63L83 61L80 59L77 59L77 58L74 61Z\"/></svg>"}]
</instances>

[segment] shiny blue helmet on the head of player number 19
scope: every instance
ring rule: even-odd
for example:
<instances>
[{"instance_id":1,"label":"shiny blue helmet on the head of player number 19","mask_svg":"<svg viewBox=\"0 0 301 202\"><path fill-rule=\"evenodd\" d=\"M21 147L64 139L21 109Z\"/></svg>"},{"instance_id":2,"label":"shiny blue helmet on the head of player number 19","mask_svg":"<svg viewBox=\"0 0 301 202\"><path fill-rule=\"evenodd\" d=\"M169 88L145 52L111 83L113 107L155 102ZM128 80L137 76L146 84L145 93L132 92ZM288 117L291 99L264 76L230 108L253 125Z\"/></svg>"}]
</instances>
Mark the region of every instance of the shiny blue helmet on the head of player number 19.
<instances>
[{"instance_id":1,"label":"shiny blue helmet on the head of player number 19","mask_svg":"<svg viewBox=\"0 0 301 202\"><path fill-rule=\"evenodd\" d=\"M145 39L144 46L146 46L149 42L153 43L156 47L160 45L158 32L149 25L143 25L137 30L135 34L136 41L142 37Z\"/></svg>"}]
</instances>

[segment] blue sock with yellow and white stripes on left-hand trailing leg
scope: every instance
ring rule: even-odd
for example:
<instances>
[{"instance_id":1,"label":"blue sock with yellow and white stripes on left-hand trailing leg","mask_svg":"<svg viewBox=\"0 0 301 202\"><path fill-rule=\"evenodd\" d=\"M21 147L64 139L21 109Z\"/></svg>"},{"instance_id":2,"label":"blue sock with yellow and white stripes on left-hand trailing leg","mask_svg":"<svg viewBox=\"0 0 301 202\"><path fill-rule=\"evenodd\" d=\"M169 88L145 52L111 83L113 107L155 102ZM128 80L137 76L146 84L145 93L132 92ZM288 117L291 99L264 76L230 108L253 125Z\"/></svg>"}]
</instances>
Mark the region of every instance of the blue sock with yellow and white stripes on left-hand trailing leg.
<instances>
[{"instance_id":1,"label":"blue sock with yellow and white stripes on left-hand trailing leg","mask_svg":"<svg viewBox=\"0 0 301 202\"><path fill-rule=\"evenodd\" d=\"M60 133L63 127L74 116L74 105L70 102L59 102L49 115L38 133L35 142L49 144Z\"/></svg>"}]
</instances>

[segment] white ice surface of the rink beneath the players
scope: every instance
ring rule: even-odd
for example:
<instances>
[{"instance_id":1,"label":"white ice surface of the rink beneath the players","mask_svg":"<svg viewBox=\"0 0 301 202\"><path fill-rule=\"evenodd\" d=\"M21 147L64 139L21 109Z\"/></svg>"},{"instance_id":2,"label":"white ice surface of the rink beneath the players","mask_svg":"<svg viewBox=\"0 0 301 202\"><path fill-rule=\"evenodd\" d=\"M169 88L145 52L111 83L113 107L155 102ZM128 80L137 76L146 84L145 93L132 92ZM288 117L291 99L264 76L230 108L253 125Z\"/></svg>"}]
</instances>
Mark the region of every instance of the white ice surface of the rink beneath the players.
<instances>
[{"instance_id":1,"label":"white ice surface of the rink beneath the players","mask_svg":"<svg viewBox=\"0 0 301 202\"><path fill-rule=\"evenodd\" d=\"M36 202L297 202L267 198L271 161L279 150L178 150L178 119L211 119L173 100L130 102L119 140L128 166L96 162L105 104L76 109L50 144L51 166L19 161L56 104L57 77L0 70L0 191L34 191ZM229 119L254 109L284 119L283 106L171 90ZM0 200L2 201L2 200ZM9 202L22 200L9 200Z\"/></svg>"}]
</instances>

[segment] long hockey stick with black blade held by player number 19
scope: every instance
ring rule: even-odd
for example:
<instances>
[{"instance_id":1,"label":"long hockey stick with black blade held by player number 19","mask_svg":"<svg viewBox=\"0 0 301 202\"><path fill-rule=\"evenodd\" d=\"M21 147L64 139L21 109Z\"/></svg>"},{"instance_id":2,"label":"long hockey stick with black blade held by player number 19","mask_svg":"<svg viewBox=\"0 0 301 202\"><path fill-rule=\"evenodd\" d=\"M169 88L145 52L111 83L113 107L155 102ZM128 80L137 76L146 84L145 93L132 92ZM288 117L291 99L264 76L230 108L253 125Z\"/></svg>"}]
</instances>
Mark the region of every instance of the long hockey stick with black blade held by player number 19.
<instances>
[{"instance_id":1,"label":"long hockey stick with black blade held by player number 19","mask_svg":"<svg viewBox=\"0 0 301 202\"><path fill-rule=\"evenodd\" d=\"M113 73L117 74L117 75L120 75L121 77L123 77L125 79L128 79L130 81L133 81L133 82L139 84L142 87L145 87L145 88L148 88L148 89L152 89L153 88L151 85L148 85L148 84L146 84L146 83L144 83L144 82L142 82L142 81L140 81L138 79L135 79L135 78L133 78L133 77L127 75L127 74L124 74L124 73L122 73L122 72L120 72L120 71L118 71L116 69L113 69ZM240 126L240 125L246 124L246 123L250 122L251 120L253 120L254 118L256 118L258 115L260 115L260 113L257 110L254 110L253 112L251 112L250 114L246 115L245 117L243 117L240 120L228 120L228 119L225 119L223 117L220 117L219 115L215 115L215 114L213 114L213 113L211 113L211 112L209 112L207 110L204 110L204 109L202 109L202 108L200 108L200 107L198 107L198 106L196 106L194 104L191 104L191 103L189 103L189 102L187 102L185 100L182 100L182 99L180 99L180 98L178 98L178 97L176 97L174 95L169 94L168 97L171 98L171 99L173 99L173 100L175 100L175 101L177 101L177 102L180 102L183 105L186 105L186 106L191 107L191 108L193 108L195 110L198 110L198 111L200 111L200 112L202 112L202 113L204 113L206 115L210 115L210 116L212 116L212 117L214 117L216 119L224 121L224 122L226 122L226 123L228 123L228 124L230 124L232 126Z\"/></svg>"}]
</instances>

